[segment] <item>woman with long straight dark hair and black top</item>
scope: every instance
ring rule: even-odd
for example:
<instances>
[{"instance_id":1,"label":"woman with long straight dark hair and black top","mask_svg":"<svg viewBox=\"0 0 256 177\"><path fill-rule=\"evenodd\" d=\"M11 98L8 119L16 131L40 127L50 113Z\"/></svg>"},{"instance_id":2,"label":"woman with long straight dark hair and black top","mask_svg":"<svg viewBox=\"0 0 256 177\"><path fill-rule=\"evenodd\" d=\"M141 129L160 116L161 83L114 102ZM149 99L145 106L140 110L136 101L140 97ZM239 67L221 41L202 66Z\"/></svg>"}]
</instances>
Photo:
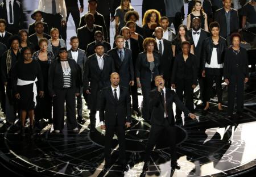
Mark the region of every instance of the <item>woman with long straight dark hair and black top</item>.
<instances>
[{"instance_id":1,"label":"woman with long straight dark hair and black top","mask_svg":"<svg viewBox=\"0 0 256 177\"><path fill-rule=\"evenodd\" d=\"M194 54L194 43L193 39L188 36L187 26L180 24L177 31L176 37L172 40L172 53L174 54L174 57L182 52L181 43L183 41L189 41L191 44L190 53Z\"/></svg>"}]
</instances>

